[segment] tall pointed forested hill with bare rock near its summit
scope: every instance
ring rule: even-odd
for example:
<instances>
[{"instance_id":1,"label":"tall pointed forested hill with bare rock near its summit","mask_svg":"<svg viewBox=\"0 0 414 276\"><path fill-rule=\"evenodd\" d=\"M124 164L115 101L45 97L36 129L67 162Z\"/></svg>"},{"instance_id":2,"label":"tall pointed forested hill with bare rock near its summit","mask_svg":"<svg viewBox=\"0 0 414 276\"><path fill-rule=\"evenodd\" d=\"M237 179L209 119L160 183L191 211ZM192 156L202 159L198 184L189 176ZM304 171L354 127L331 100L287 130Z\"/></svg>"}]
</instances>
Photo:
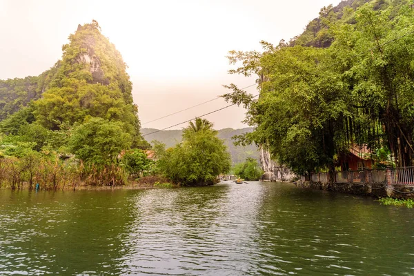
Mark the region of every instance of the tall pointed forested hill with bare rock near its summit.
<instances>
[{"instance_id":1,"label":"tall pointed forested hill with bare rock near its summit","mask_svg":"<svg viewBox=\"0 0 414 276\"><path fill-rule=\"evenodd\" d=\"M0 81L0 130L58 131L92 119L117 122L132 146L145 146L126 64L97 21L79 25L62 46L62 59L38 77ZM25 128L25 130L23 130Z\"/></svg>"}]
</instances>

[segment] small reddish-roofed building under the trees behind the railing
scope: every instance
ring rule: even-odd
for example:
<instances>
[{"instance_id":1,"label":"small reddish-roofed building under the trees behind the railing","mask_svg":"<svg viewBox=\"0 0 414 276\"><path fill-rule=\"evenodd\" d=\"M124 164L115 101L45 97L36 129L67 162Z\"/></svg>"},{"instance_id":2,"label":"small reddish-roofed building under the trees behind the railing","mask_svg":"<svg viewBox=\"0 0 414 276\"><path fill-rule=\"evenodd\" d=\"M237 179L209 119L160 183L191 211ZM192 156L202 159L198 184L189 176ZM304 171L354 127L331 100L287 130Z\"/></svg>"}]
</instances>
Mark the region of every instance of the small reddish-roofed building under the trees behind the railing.
<instances>
[{"instance_id":1,"label":"small reddish-roofed building under the trees behind the railing","mask_svg":"<svg viewBox=\"0 0 414 276\"><path fill-rule=\"evenodd\" d=\"M371 169L373 167L371 151L366 146L353 146L348 152L342 153L338 165L341 166L342 171Z\"/></svg>"}]
</instances>

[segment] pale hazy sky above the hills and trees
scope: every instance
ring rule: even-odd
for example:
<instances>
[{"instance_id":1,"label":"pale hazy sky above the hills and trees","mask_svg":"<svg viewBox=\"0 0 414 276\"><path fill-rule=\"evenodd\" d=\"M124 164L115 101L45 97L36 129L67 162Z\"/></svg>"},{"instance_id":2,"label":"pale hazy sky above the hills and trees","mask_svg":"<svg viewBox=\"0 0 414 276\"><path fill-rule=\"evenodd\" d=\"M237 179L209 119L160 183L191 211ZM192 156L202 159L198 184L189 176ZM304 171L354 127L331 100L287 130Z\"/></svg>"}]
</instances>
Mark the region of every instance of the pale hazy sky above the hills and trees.
<instances>
[{"instance_id":1,"label":"pale hazy sky above the hills and trees","mask_svg":"<svg viewBox=\"0 0 414 276\"><path fill-rule=\"evenodd\" d=\"M166 128L228 103L217 99L145 123L222 95L223 84L255 83L227 74L229 50L260 50L261 40L288 41L322 7L339 1L0 0L0 79L41 74L61 58L61 46L77 25L95 19L129 66L143 127ZM206 118L217 129L241 128L244 112L233 106Z\"/></svg>"}]
</instances>

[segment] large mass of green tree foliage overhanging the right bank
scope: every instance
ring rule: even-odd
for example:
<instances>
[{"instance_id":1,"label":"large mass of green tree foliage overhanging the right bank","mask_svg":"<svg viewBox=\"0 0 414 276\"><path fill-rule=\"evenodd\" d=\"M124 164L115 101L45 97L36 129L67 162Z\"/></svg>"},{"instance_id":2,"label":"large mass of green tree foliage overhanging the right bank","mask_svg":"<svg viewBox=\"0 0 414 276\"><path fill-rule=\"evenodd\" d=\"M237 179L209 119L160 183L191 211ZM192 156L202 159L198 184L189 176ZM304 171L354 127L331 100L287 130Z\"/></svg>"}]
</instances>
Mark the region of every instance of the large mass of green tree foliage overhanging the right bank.
<instances>
[{"instance_id":1,"label":"large mass of green tree foliage overhanging the right bank","mask_svg":"<svg viewBox=\"0 0 414 276\"><path fill-rule=\"evenodd\" d=\"M295 172L332 172L353 145L373 152L389 148L398 166L413 165L411 3L348 2L352 8L321 12L318 22L324 26L313 39L323 40L317 38L323 30L329 43L311 45L299 37L276 47L262 42L259 54L230 52L230 63L242 61L230 73L259 77L258 99L236 86L224 95L249 108L246 122L255 131L239 142L263 145Z\"/></svg>"}]
</instances>

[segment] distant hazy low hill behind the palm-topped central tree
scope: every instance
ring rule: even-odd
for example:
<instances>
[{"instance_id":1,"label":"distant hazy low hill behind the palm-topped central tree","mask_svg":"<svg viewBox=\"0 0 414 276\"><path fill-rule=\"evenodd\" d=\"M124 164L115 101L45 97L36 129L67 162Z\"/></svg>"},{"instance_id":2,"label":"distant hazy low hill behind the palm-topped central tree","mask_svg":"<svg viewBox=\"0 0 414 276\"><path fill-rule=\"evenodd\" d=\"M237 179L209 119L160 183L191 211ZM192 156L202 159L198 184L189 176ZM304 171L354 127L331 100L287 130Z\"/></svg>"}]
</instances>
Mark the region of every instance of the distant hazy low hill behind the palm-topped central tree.
<instances>
[{"instance_id":1,"label":"distant hazy low hill behind the palm-topped central tree","mask_svg":"<svg viewBox=\"0 0 414 276\"><path fill-rule=\"evenodd\" d=\"M141 132L142 135L146 135L150 132L155 132L157 129L155 128L142 128ZM247 157L252 157L259 161L259 152L257 151L257 146L250 145L250 146L235 146L233 144L233 140L231 137L235 135L242 135L246 132L252 132L253 128L241 128L241 129L233 129L233 128L224 128L218 130L219 134L218 137L220 139L224 139L224 143L228 147L228 150L231 155L231 159L233 164L242 162L246 160ZM181 134L182 130L162 130L152 135L148 135L144 137L148 142L157 140L164 144L166 144L167 148L175 146L175 144L181 142Z\"/></svg>"}]
</instances>

